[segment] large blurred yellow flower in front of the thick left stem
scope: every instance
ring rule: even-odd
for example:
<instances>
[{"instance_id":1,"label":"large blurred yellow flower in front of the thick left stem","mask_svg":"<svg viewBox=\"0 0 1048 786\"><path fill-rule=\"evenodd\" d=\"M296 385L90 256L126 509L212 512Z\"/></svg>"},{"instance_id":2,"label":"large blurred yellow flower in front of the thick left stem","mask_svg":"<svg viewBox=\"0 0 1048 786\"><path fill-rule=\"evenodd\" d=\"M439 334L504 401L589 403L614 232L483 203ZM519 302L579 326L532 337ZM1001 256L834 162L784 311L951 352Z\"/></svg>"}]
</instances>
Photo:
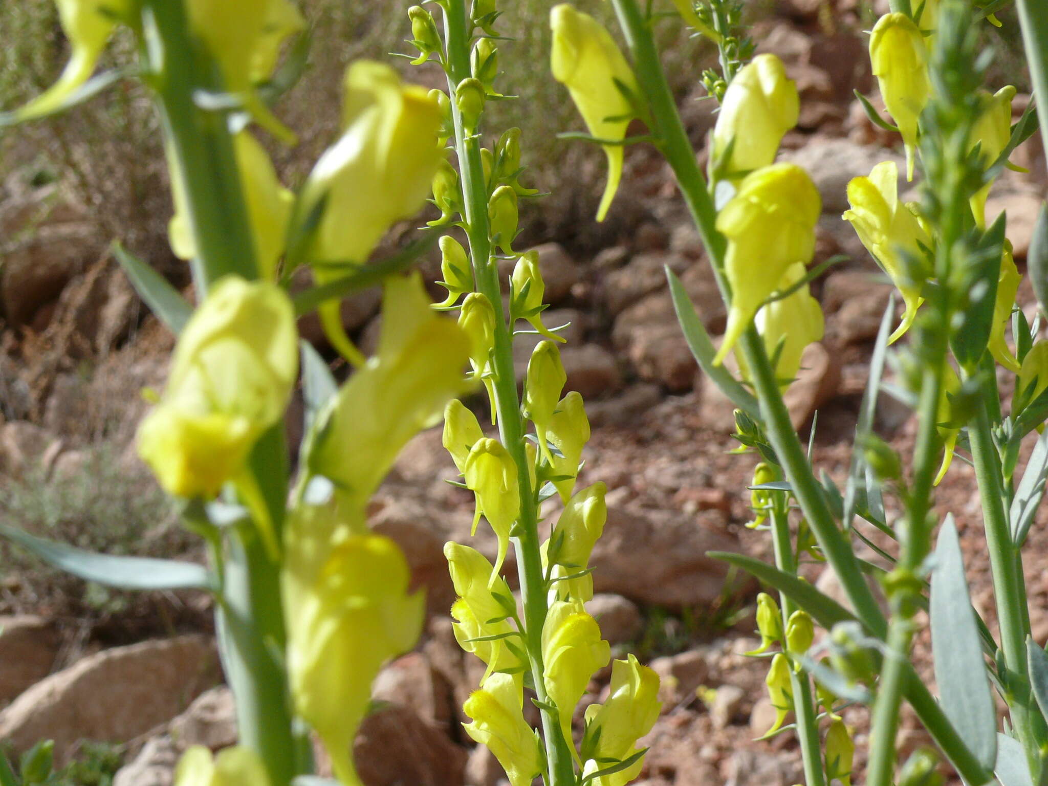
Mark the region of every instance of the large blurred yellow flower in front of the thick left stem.
<instances>
[{"instance_id":1,"label":"large blurred yellow flower in front of the thick left stem","mask_svg":"<svg viewBox=\"0 0 1048 786\"><path fill-rule=\"evenodd\" d=\"M299 369L294 311L275 284L216 283L178 339L138 455L176 497L214 497L277 423Z\"/></svg>"}]
</instances>

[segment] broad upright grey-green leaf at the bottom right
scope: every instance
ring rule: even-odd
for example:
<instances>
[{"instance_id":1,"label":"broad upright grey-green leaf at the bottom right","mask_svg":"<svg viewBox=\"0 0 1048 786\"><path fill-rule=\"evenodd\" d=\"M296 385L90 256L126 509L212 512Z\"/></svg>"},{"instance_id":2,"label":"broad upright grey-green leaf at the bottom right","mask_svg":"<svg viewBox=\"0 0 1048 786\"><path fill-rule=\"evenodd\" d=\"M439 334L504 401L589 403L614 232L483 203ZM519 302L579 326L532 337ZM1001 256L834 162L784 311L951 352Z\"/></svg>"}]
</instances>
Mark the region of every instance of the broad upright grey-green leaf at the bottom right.
<instances>
[{"instance_id":1,"label":"broad upright grey-green leaf at the bottom right","mask_svg":"<svg viewBox=\"0 0 1048 786\"><path fill-rule=\"evenodd\" d=\"M929 616L939 701L968 749L989 769L997 757L997 712L953 516L939 530L935 562Z\"/></svg>"}]
</instances>

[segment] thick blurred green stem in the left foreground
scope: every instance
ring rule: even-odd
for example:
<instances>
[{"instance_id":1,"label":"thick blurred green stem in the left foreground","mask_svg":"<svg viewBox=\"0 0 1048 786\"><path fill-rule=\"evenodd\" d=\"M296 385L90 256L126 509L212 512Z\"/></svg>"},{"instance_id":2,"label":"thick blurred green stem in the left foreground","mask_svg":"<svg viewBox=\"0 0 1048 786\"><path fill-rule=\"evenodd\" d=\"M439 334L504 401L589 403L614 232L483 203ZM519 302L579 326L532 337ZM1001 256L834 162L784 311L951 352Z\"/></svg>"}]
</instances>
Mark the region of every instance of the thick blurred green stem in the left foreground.
<instances>
[{"instance_id":1,"label":"thick blurred green stem in the left foreground","mask_svg":"<svg viewBox=\"0 0 1048 786\"><path fill-rule=\"evenodd\" d=\"M202 298L223 276L258 278L227 118L201 110L193 101L195 90L221 85L210 60L194 49L182 3L145 0L143 34L172 177L181 181L196 244L193 274ZM256 444L250 468L279 542L287 488L283 424ZM255 531L231 534L225 560L224 597L216 616L225 633L220 638L222 659L236 695L240 738L259 755L270 782L286 784L301 768L296 766L286 677L274 655L284 647L280 566Z\"/></svg>"}]
</instances>

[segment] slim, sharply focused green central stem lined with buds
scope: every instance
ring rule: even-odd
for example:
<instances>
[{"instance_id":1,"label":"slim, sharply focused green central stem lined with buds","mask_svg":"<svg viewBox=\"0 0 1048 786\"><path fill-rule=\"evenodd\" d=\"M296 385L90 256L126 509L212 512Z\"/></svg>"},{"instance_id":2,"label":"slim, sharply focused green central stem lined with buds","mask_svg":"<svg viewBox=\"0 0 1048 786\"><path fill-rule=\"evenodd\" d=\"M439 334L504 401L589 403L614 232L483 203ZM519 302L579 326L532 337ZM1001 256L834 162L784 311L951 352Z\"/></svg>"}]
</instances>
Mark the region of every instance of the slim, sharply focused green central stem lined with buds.
<instances>
[{"instance_id":1,"label":"slim, sharply focused green central stem lined with buds","mask_svg":"<svg viewBox=\"0 0 1048 786\"><path fill-rule=\"evenodd\" d=\"M465 202L466 236L477 290L495 307L495 409L502 443L517 463L520 489L521 509L517 521L520 534L511 540L524 605L523 633L536 697L541 704L548 704L542 656L542 629L548 606L539 545L539 505L536 489L531 487L529 459L524 447L524 419L517 395L517 372L514 367L512 326L507 323L503 312L498 265L492 256L487 216L489 195L480 157L480 141L476 136L465 133L454 99L456 85L471 75L468 25L464 0L447 0L444 6L447 86L452 95L456 151ZM564 738L558 715L547 709L542 709L541 713L549 765L549 786L569 786L575 781L571 746Z\"/></svg>"}]
</instances>

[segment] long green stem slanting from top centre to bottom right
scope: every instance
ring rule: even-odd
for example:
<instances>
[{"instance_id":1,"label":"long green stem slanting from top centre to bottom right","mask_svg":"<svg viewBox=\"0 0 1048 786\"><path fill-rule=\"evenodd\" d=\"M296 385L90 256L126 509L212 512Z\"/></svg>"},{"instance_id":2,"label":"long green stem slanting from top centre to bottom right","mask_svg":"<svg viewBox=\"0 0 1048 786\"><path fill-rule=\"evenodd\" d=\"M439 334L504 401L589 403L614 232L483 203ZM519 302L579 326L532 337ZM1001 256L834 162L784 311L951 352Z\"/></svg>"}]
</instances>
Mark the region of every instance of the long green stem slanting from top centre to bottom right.
<instances>
[{"instance_id":1,"label":"long green stem slanting from top centre to bottom right","mask_svg":"<svg viewBox=\"0 0 1048 786\"><path fill-rule=\"evenodd\" d=\"M660 149L673 168L677 183L695 219L699 236L709 255L721 292L727 299L729 290L720 272L725 250L724 237L717 232L717 212L706 191L705 179L699 171L695 153L677 112L673 93L659 63L648 20L641 15L636 0L612 0L612 4L633 53L634 70L641 92L650 103ZM827 562L839 576L845 594L856 610L860 621L871 634L885 638L888 626L883 614L880 613L873 593L863 577L848 539L837 528L818 481L811 472L804 447L790 422L789 412L783 402L763 342L757 331L750 328L742 335L740 346L754 375L754 387L761 402L765 429L805 518ZM904 676L905 697L961 777L971 784L986 783L990 779L989 773L964 745L938 702L909 664Z\"/></svg>"}]
</instances>

